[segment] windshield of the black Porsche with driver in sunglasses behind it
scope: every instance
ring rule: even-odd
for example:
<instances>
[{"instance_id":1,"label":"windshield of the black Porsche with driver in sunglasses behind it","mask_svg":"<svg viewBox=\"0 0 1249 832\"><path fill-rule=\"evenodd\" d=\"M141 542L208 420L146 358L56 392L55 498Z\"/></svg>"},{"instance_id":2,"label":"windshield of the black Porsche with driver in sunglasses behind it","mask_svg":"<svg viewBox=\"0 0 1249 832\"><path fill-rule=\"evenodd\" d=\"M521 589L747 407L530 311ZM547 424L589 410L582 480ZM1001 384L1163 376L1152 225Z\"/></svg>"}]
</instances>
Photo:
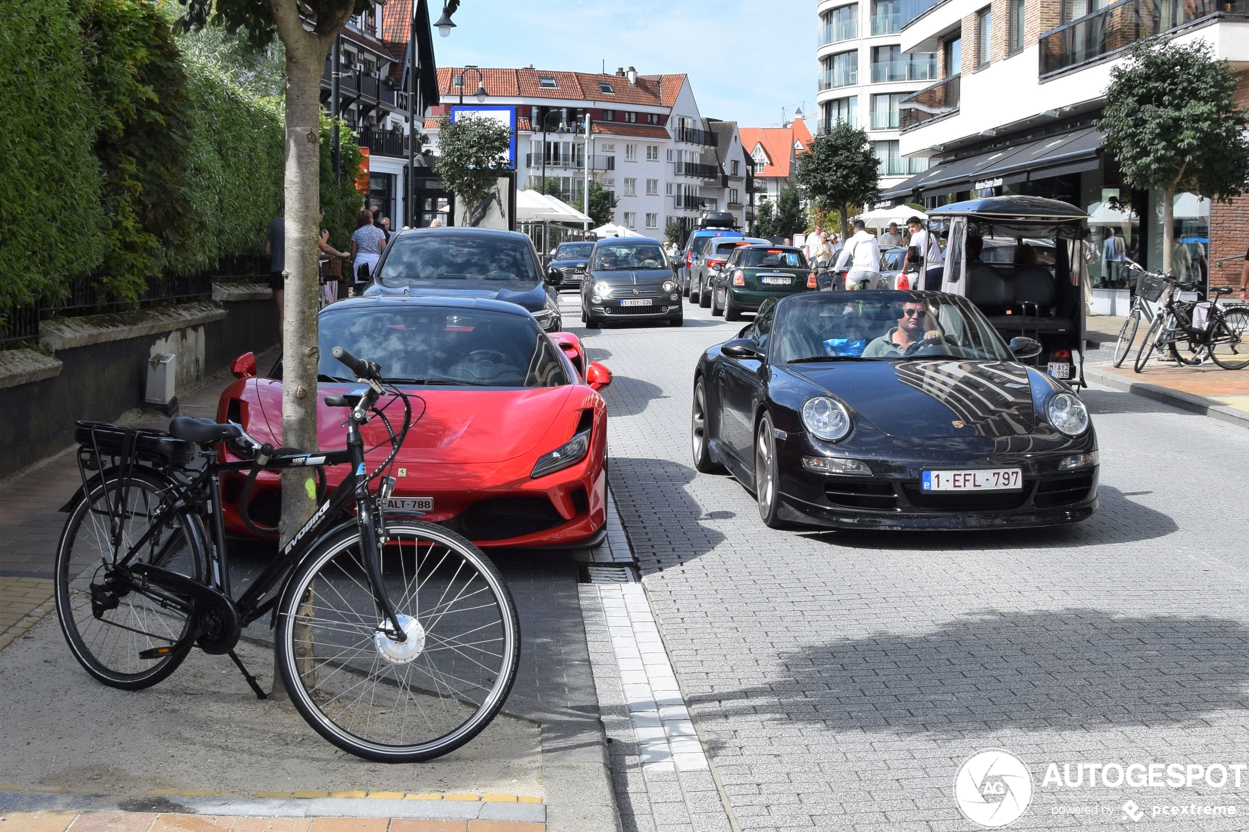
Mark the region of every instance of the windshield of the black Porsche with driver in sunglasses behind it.
<instances>
[{"instance_id":1,"label":"windshield of the black Porsche with driver in sunglasses behind it","mask_svg":"<svg viewBox=\"0 0 1249 832\"><path fill-rule=\"evenodd\" d=\"M965 298L933 292L819 292L779 306L776 362L1014 360Z\"/></svg>"}]
</instances>

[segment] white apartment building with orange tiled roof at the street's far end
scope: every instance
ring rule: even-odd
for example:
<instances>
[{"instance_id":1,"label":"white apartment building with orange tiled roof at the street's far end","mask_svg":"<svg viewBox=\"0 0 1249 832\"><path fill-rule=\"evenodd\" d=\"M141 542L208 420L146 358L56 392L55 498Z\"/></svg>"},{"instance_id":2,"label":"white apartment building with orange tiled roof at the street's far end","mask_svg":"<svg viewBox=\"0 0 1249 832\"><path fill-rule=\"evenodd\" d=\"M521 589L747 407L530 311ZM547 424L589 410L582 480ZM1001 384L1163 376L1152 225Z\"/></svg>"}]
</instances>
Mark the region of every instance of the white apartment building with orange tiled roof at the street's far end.
<instances>
[{"instance_id":1,"label":"white apartment building with orange tiled roof at the street's far end","mask_svg":"<svg viewBox=\"0 0 1249 832\"><path fill-rule=\"evenodd\" d=\"M687 76L639 75L633 67L615 74L443 67L443 105L425 122L432 141L438 116L465 94L470 104L477 101L478 86L485 104L517 110L518 187L550 187L553 181L558 196L575 202L583 193L588 160L590 176L618 200L613 222L641 235L662 238L669 221L691 230L703 211L726 210L731 196L744 220L744 166L732 156L741 137L736 125L717 127L732 122L701 115ZM722 158L724 131L732 136Z\"/></svg>"}]
</instances>

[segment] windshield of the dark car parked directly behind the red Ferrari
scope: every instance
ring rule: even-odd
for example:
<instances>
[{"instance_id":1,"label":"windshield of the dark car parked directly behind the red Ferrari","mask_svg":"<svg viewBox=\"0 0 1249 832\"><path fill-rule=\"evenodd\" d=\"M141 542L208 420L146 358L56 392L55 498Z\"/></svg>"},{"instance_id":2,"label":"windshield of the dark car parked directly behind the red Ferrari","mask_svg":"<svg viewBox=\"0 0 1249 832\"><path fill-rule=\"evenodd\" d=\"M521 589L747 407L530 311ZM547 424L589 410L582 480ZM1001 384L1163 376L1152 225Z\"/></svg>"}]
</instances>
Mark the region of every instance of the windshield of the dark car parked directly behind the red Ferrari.
<instances>
[{"instance_id":1,"label":"windshield of the dark car parked directly behind the red Ferrari","mask_svg":"<svg viewBox=\"0 0 1249 832\"><path fill-rule=\"evenodd\" d=\"M536 284L537 264L525 239L465 233L400 236L378 276L382 286L418 281L507 281Z\"/></svg>"}]
</instances>

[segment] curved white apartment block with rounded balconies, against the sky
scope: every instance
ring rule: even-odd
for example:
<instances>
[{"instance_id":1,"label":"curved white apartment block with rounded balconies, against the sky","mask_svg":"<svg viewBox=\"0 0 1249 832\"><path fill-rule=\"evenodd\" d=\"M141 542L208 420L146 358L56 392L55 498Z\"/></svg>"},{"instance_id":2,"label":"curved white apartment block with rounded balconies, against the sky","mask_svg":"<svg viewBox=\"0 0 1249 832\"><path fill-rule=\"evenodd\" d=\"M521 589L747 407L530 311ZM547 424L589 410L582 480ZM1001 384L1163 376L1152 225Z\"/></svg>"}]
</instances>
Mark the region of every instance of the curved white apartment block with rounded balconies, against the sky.
<instances>
[{"instance_id":1,"label":"curved white apartment block with rounded balconies, against the sky","mask_svg":"<svg viewBox=\"0 0 1249 832\"><path fill-rule=\"evenodd\" d=\"M903 51L902 26L934 0L821 0L816 101L823 132L844 121L867 130L881 160L881 185L892 187L924 170L899 152L899 102L937 80L932 51Z\"/></svg>"}]
</instances>

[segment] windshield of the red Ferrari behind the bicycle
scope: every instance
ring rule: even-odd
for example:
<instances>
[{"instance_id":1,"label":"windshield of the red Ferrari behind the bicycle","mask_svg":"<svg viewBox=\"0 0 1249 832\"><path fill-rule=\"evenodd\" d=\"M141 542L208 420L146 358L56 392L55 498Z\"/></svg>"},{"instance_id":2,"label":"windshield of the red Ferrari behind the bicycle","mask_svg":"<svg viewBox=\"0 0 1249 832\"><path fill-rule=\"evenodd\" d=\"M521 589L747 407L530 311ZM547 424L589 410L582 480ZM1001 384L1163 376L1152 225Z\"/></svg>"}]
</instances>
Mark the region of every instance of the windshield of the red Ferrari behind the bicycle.
<instances>
[{"instance_id":1,"label":"windshield of the red Ferrari behind the bicycle","mask_svg":"<svg viewBox=\"0 0 1249 832\"><path fill-rule=\"evenodd\" d=\"M320 318L321 380L353 380L330 353L376 360L396 383L467 387L567 384L551 339L528 317L453 307L326 309Z\"/></svg>"}]
</instances>

